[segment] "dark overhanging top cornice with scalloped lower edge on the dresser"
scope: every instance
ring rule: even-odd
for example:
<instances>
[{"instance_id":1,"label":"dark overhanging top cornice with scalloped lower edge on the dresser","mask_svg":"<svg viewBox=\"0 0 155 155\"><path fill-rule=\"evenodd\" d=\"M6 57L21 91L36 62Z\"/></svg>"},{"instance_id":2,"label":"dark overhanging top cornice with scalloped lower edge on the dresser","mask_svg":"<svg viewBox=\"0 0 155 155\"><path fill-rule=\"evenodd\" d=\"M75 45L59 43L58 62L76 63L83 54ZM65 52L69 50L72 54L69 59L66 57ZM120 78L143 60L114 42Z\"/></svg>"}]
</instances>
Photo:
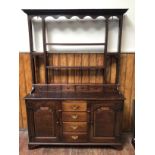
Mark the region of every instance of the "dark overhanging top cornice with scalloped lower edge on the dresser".
<instances>
[{"instance_id":1,"label":"dark overhanging top cornice with scalloped lower edge on the dresser","mask_svg":"<svg viewBox=\"0 0 155 155\"><path fill-rule=\"evenodd\" d=\"M83 18L84 16L91 16L96 18L97 16L117 16L123 15L128 9L22 9L27 15L37 16L53 16L58 18L59 16L66 16L71 18L72 16L78 16Z\"/></svg>"}]
</instances>

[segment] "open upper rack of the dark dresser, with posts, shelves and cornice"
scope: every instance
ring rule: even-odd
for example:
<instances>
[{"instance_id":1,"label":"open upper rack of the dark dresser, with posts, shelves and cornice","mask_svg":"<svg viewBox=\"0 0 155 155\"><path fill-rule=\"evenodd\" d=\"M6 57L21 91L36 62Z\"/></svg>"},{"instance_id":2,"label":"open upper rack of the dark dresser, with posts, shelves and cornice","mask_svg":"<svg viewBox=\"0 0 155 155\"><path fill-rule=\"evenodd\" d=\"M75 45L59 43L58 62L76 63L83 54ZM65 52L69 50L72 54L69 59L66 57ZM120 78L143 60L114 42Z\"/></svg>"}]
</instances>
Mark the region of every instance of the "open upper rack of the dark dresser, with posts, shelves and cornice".
<instances>
[{"instance_id":1,"label":"open upper rack of the dark dresser, with posts, shelves and cornice","mask_svg":"<svg viewBox=\"0 0 155 155\"><path fill-rule=\"evenodd\" d=\"M128 9L56 9L56 10L52 10L52 9L23 9L23 11L28 15L28 28L29 28L29 39L30 39L30 52L31 52L31 69L32 69L32 83L35 84L36 83L36 71L35 71L35 63L37 62L36 57L42 57L43 59L41 60L43 63L43 67L44 67L44 74L45 74L45 83L48 84L48 78L49 78L49 71L48 70L101 70L103 71L103 79L105 83L108 83L109 81L108 79L108 74L110 72L110 66L109 66L109 58L112 57L112 59L116 59L116 79L115 79L115 83L118 84L120 82L119 79L119 73L120 73L120 52L121 52L121 40L122 40L122 25L123 25L123 15L124 13L126 13ZM35 16L39 16L42 20L41 20L41 30L42 30L42 45L43 45L43 52L42 53L38 53L37 51L35 52L34 47L33 47L33 18L35 18ZM89 41L85 41L85 42L51 42L50 39L47 37L48 34L48 27L47 27L47 22L48 20L46 18L48 18L49 16L52 16L54 18L59 18L62 16L67 17L68 19L70 19L73 16L78 16L79 18L84 20L84 17L86 16L90 16L92 17L94 20L97 19L97 17L99 16L103 16L103 20L105 22L105 24L103 24L104 28L105 28L105 32L104 32L104 37L101 42L94 40L92 42ZM113 21L110 20L111 18L113 19L117 18L118 19L118 43L117 43L117 51L116 53L110 53L108 52L108 39L109 39L109 24ZM76 53L77 51L77 47L80 46L90 46L91 49L93 49L93 46L104 46L104 49L101 50L101 52L103 54L103 61L102 61L102 65L103 66L52 66L52 64L54 65L53 62L49 63L49 61L53 61L53 57L50 57L50 55L48 53L59 53L54 49L53 47L50 48L50 46L73 46L75 47L75 50L73 48L73 52L71 53ZM52 49L53 48L53 49ZM65 47L63 47L64 49ZM80 47L81 48L81 47ZM60 48L60 53L70 53L70 52L61 52ZM99 49L97 49L99 50ZM86 50L87 51L87 50ZM96 50L92 50L94 53L98 53ZM77 52L79 53L79 52ZM85 50L81 50L80 53L85 53ZM92 52L88 52L87 53L92 53ZM54 55L53 55L54 56ZM50 58L50 60L49 60ZM57 61L57 60L56 60ZM65 60L66 61L66 60ZM83 64L83 59L80 60L82 62L78 63L77 65ZM86 60L88 61L88 60ZM92 65L95 65L95 63ZM51 66L49 66L49 64ZM57 64L61 65L61 63ZM64 65L67 65L68 63L64 63ZM73 64L73 63L71 63ZM88 64L86 64L88 65ZM50 73L51 74L51 73ZM52 82L52 81L51 81Z\"/></svg>"}]
</instances>

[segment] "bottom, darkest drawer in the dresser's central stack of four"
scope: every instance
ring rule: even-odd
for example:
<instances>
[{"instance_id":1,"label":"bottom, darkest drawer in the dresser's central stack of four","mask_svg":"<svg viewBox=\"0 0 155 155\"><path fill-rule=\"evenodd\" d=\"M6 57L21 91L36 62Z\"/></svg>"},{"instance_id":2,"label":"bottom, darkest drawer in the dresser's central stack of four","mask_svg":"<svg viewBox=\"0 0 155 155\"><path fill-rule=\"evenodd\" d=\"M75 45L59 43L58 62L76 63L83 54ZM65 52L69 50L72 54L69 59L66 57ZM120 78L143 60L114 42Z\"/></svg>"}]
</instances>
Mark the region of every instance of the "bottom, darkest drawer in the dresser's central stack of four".
<instances>
[{"instance_id":1,"label":"bottom, darkest drawer in the dresser's central stack of four","mask_svg":"<svg viewBox=\"0 0 155 155\"><path fill-rule=\"evenodd\" d=\"M63 133L63 140L65 142L87 142L87 134L86 133Z\"/></svg>"}]
</instances>

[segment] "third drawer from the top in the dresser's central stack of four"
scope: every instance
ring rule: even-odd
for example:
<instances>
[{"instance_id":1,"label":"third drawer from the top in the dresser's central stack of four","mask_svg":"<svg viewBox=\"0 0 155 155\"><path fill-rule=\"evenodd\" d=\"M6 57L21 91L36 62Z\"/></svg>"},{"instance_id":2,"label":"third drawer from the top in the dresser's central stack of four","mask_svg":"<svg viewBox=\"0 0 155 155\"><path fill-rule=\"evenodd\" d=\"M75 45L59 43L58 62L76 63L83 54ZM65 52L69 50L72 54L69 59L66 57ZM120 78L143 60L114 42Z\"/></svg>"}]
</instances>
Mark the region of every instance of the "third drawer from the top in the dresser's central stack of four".
<instances>
[{"instance_id":1,"label":"third drawer from the top in the dresser's central stack of four","mask_svg":"<svg viewBox=\"0 0 155 155\"><path fill-rule=\"evenodd\" d=\"M63 131L87 131L87 122L63 122Z\"/></svg>"}]
</instances>

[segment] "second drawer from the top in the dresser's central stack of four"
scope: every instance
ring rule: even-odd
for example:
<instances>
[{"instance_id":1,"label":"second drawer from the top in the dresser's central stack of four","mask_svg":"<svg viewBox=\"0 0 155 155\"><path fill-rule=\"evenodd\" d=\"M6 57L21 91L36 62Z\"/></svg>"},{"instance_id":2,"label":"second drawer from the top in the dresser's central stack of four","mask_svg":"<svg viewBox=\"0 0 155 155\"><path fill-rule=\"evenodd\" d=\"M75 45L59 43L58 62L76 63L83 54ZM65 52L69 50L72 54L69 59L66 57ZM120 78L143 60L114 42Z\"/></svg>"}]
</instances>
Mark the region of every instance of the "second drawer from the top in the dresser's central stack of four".
<instances>
[{"instance_id":1,"label":"second drawer from the top in the dresser's central stack of four","mask_svg":"<svg viewBox=\"0 0 155 155\"><path fill-rule=\"evenodd\" d=\"M86 122L86 112L62 112L63 122Z\"/></svg>"}]
</instances>

